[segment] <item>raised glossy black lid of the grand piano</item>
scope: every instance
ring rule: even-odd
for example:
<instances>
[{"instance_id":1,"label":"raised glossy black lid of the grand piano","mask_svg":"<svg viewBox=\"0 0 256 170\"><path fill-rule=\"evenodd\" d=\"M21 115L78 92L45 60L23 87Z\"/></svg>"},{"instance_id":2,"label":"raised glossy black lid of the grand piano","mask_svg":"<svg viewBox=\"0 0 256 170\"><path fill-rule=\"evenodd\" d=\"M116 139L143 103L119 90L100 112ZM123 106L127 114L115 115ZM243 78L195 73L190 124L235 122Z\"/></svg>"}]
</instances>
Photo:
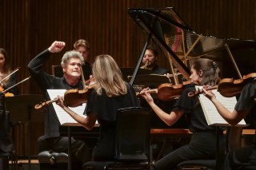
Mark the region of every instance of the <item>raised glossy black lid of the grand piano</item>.
<instances>
[{"instance_id":1,"label":"raised glossy black lid of the grand piano","mask_svg":"<svg viewBox=\"0 0 256 170\"><path fill-rule=\"evenodd\" d=\"M175 13L164 9L129 9L128 14L180 70L190 77L190 63L199 57L210 58L220 65L222 77L240 78L225 44L230 48L242 75L256 72L256 42L252 40L222 39L196 34Z\"/></svg>"}]
</instances>

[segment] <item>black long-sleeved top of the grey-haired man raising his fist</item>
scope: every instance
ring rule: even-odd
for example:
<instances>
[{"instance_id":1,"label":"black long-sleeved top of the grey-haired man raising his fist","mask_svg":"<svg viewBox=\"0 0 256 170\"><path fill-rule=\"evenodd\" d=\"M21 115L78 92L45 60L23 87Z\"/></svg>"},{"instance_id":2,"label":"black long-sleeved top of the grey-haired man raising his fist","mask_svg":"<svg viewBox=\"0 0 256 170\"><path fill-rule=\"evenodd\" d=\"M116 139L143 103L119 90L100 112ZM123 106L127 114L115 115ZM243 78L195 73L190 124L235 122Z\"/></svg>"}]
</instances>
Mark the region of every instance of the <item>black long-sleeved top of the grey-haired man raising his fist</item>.
<instances>
[{"instance_id":1,"label":"black long-sleeved top of the grey-haired man raising his fist","mask_svg":"<svg viewBox=\"0 0 256 170\"><path fill-rule=\"evenodd\" d=\"M55 77L54 75L44 72L43 65L49 59L50 54L50 51L46 49L34 57L28 65L31 77L37 81L38 85L45 91L45 93L46 89L83 89L82 81L78 81L77 85L71 86L67 84L64 77ZM46 100L50 100L48 95L46 95ZM45 138L56 136L60 136L59 121L53 106L49 105L46 111Z\"/></svg>"}]
</instances>

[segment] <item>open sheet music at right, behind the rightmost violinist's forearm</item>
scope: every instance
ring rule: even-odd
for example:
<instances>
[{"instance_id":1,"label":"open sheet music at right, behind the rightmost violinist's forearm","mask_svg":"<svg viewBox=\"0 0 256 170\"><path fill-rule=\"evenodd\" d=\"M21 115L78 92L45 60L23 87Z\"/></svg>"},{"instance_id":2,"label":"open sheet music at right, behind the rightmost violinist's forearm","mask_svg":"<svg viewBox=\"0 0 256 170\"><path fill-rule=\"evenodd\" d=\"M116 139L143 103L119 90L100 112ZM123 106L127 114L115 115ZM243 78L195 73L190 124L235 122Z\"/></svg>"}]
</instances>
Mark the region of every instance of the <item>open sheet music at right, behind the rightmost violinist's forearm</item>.
<instances>
[{"instance_id":1,"label":"open sheet music at right, behind the rightmost violinist's forearm","mask_svg":"<svg viewBox=\"0 0 256 170\"><path fill-rule=\"evenodd\" d=\"M196 89L202 89L202 86L196 86ZM218 101L222 103L226 109L230 110L232 113L234 110L234 106L237 103L236 97L223 97L220 93L218 93L217 89L212 90L215 94ZM199 94L199 101L202 105L203 113L205 114L206 121L208 125L230 125L223 119L223 117L218 113L218 110L207 97L203 94ZM244 120L240 121L237 126L246 126L246 122Z\"/></svg>"}]
</instances>

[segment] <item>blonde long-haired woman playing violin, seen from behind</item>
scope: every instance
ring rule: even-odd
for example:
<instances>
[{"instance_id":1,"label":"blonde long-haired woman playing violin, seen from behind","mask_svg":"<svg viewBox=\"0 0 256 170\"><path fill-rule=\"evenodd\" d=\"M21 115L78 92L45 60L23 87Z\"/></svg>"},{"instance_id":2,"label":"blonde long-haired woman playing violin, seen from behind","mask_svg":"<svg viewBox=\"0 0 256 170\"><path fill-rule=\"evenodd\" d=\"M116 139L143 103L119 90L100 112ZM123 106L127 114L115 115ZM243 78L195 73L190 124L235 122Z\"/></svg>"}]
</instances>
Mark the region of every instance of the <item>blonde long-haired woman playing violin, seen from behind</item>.
<instances>
[{"instance_id":1,"label":"blonde long-haired woman playing violin, seen from behind","mask_svg":"<svg viewBox=\"0 0 256 170\"><path fill-rule=\"evenodd\" d=\"M134 89L122 80L121 71L110 55L95 57L93 64L94 89L90 92L86 103L86 118L74 113L63 104L63 97L58 97L58 105L75 121L88 130L98 120L100 124L99 140L94 147L92 160L114 160L115 125L118 109L139 106Z\"/></svg>"}]
</instances>

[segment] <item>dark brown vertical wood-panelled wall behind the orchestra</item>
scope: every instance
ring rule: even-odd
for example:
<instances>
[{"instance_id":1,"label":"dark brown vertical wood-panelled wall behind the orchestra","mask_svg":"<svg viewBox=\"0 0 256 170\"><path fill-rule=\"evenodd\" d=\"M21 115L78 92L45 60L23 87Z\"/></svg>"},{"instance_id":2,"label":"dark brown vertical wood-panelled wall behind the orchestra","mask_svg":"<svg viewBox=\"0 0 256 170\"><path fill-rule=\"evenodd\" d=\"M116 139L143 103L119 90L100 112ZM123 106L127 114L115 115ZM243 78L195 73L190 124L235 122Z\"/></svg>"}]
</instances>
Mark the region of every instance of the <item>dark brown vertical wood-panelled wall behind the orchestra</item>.
<instances>
[{"instance_id":1,"label":"dark brown vertical wood-panelled wall behind the orchestra","mask_svg":"<svg viewBox=\"0 0 256 170\"><path fill-rule=\"evenodd\" d=\"M120 67L133 67L146 34L127 9L167 6L174 7L198 34L256 39L254 0L0 0L0 47L7 50L12 68L21 67L20 80L29 76L29 61L54 40L66 42L66 51L77 39L84 38L91 45L90 61L108 53ZM60 63L63 53L52 55L45 65L46 72ZM165 57L158 62L167 67ZM18 86L21 94L42 93L33 79Z\"/></svg>"}]
</instances>

